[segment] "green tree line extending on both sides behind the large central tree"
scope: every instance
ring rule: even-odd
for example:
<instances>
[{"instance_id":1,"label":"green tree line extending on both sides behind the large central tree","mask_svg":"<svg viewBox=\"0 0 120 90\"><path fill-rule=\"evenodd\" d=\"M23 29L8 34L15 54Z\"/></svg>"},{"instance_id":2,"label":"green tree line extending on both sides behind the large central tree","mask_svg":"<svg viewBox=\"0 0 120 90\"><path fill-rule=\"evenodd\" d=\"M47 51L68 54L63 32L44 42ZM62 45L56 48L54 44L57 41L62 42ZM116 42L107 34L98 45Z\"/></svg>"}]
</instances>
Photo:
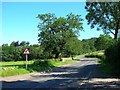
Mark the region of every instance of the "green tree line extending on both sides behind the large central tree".
<instances>
[{"instance_id":1,"label":"green tree line extending on both sides behind the large central tree","mask_svg":"<svg viewBox=\"0 0 120 90\"><path fill-rule=\"evenodd\" d=\"M97 50L104 50L109 47L110 43L112 43L112 38L108 35L100 35L99 38L83 40L79 40L77 37L74 37L67 40L67 43L63 47L64 49L61 56L70 57ZM30 43L26 41L22 41L21 43L13 41L10 45L3 44L1 47L2 61L25 60L25 55L23 55L25 48L30 50L30 55L28 56L29 60L56 58L54 53L47 51L42 45L30 45Z\"/></svg>"}]
</instances>

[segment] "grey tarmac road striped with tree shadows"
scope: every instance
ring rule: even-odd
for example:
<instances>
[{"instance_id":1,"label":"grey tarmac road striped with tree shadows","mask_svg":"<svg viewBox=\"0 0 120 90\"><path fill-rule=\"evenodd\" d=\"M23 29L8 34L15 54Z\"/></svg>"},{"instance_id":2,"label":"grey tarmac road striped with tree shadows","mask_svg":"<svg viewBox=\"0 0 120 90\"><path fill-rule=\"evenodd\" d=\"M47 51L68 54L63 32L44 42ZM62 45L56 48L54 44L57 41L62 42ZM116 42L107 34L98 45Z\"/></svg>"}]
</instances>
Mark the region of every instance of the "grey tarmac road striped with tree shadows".
<instances>
[{"instance_id":1,"label":"grey tarmac road striped with tree shadows","mask_svg":"<svg viewBox=\"0 0 120 90\"><path fill-rule=\"evenodd\" d=\"M3 78L2 88L3 90L120 88L120 79L102 75L100 65L95 58L82 57L80 61L44 73Z\"/></svg>"}]
</instances>

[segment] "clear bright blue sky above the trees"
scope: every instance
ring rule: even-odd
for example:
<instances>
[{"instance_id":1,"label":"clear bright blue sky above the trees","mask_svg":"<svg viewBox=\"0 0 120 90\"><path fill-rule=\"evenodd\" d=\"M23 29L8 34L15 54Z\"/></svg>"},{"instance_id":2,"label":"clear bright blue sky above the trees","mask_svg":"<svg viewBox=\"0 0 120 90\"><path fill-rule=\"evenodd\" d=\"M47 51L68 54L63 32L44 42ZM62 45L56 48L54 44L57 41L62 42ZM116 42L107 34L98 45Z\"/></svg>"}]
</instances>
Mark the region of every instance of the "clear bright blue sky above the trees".
<instances>
[{"instance_id":1,"label":"clear bright blue sky above the trees","mask_svg":"<svg viewBox=\"0 0 120 90\"><path fill-rule=\"evenodd\" d=\"M85 2L3 2L2 3L2 44L12 41L29 41L38 43L38 14L54 13L57 17L65 17L69 13L80 14L84 19L79 39L99 37L102 31L91 29L87 25L84 9ZM0 43L1 44L1 43Z\"/></svg>"}]
</instances>

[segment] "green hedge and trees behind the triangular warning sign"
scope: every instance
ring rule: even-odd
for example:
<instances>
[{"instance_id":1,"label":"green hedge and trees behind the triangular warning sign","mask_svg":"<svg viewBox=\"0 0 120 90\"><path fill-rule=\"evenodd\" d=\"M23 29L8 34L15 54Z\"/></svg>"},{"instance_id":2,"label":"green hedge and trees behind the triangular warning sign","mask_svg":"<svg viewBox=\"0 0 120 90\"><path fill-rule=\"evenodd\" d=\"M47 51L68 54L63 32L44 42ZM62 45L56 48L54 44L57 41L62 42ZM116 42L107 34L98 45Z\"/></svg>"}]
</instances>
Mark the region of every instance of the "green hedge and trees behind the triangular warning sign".
<instances>
[{"instance_id":1,"label":"green hedge and trees behind the triangular warning sign","mask_svg":"<svg viewBox=\"0 0 120 90\"><path fill-rule=\"evenodd\" d=\"M23 41L25 42L25 41ZM21 43L23 43L21 42ZM29 42L25 42L26 44L17 44L15 46L15 41L13 41L10 46L8 44L2 45L2 61L19 61L25 60L25 55L23 55L23 51L25 48L30 50L30 55L28 56L29 60L39 59L43 57L43 48L39 45L30 45Z\"/></svg>"}]
</instances>

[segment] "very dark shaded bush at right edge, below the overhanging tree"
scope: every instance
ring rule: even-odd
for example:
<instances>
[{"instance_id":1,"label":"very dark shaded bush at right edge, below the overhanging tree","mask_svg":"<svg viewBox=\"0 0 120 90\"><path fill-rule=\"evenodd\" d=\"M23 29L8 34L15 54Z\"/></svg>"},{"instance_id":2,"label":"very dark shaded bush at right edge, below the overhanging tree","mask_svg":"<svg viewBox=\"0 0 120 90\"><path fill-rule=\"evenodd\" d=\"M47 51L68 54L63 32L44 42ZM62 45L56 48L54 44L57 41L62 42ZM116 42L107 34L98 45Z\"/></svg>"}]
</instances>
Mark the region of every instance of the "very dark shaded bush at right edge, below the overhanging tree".
<instances>
[{"instance_id":1,"label":"very dark shaded bush at right edge, below the overhanging tree","mask_svg":"<svg viewBox=\"0 0 120 90\"><path fill-rule=\"evenodd\" d=\"M105 50L105 63L111 66L112 74L120 75L120 39Z\"/></svg>"}]
</instances>

